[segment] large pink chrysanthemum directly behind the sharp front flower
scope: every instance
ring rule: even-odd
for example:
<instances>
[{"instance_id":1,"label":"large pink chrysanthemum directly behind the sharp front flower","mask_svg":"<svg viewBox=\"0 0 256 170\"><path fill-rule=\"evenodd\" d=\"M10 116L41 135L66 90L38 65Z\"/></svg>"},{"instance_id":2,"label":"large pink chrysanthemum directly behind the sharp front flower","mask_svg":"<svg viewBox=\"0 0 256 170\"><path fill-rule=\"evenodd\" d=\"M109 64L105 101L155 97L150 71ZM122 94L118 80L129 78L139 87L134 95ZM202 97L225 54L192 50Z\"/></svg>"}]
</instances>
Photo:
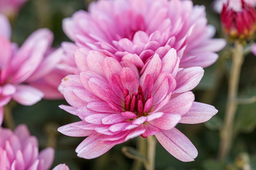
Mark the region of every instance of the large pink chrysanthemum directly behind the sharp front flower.
<instances>
[{"instance_id":1,"label":"large pink chrysanthemum directly behind the sharp front flower","mask_svg":"<svg viewBox=\"0 0 256 170\"><path fill-rule=\"evenodd\" d=\"M215 52L225 46L225 40L213 38L205 7L191 0L98 0L88 11L63 20L64 32L79 47L119 57L135 53L143 61L174 48L184 68L213 64ZM70 55L74 45L64 43L63 50Z\"/></svg>"}]
</instances>

